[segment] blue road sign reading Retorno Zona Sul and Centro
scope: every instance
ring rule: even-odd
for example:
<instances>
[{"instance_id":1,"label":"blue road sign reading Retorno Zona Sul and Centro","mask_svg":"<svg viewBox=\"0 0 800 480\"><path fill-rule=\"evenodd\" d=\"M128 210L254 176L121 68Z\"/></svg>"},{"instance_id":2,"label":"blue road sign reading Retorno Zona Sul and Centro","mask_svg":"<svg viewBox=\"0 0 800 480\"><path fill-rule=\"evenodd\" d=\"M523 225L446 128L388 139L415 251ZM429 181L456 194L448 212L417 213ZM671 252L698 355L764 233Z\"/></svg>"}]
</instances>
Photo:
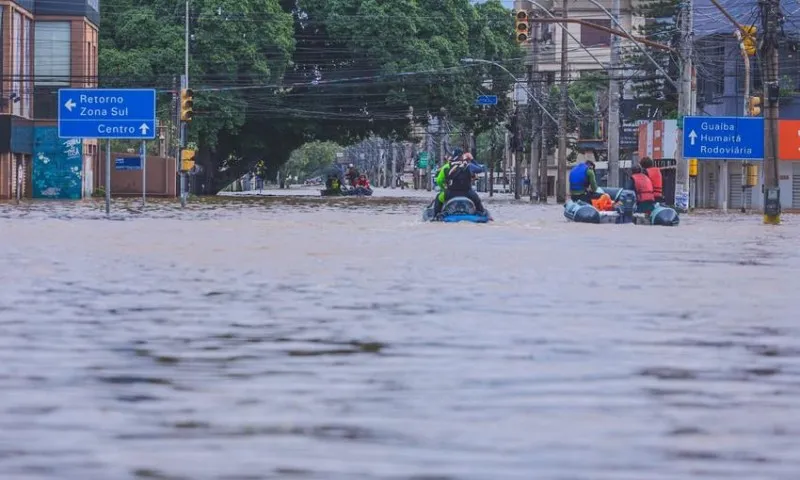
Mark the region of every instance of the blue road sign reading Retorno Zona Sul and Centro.
<instances>
[{"instance_id":1,"label":"blue road sign reading Retorno Zona Sul and Centro","mask_svg":"<svg viewBox=\"0 0 800 480\"><path fill-rule=\"evenodd\" d=\"M58 91L59 138L152 139L156 91L62 88Z\"/></svg>"}]
</instances>

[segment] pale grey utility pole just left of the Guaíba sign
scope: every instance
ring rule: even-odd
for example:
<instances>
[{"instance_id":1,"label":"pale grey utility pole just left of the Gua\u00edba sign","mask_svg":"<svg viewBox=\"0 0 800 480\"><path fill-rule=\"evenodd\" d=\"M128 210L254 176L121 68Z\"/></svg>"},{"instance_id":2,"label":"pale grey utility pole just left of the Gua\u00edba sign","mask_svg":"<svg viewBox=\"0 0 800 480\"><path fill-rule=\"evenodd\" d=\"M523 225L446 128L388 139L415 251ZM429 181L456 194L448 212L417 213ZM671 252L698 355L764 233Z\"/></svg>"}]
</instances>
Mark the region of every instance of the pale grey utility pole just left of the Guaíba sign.
<instances>
[{"instance_id":1,"label":"pale grey utility pole just left of the Gua\u00edba sign","mask_svg":"<svg viewBox=\"0 0 800 480\"><path fill-rule=\"evenodd\" d=\"M683 157L683 118L694 113L692 102L692 8L694 0L683 0L680 25L681 77L678 83L678 128L675 150L675 205L689 210L689 159Z\"/></svg>"}]
</instances>

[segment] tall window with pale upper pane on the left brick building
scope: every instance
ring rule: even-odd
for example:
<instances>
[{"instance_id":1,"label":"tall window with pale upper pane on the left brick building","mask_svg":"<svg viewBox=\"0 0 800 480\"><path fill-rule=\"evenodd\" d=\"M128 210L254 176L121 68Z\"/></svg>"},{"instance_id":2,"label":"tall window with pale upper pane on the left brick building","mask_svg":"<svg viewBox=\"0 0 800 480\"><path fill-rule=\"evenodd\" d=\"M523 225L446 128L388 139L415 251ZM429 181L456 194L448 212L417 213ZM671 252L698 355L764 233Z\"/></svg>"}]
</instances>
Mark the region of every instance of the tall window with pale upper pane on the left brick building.
<instances>
[{"instance_id":1,"label":"tall window with pale upper pane on the left brick building","mask_svg":"<svg viewBox=\"0 0 800 480\"><path fill-rule=\"evenodd\" d=\"M34 117L56 118L58 89L70 85L70 23L36 22L34 38Z\"/></svg>"}]
</instances>

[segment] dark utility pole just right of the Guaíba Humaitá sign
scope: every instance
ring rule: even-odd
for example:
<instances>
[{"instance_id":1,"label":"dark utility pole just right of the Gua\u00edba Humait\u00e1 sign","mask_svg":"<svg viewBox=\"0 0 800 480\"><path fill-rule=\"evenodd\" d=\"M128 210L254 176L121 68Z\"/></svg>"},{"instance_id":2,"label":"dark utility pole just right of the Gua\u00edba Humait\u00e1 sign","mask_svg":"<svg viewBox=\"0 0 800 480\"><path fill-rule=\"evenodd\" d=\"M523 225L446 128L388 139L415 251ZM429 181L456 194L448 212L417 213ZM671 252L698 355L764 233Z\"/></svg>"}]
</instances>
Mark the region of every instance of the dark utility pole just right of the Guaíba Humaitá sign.
<instances>
[{"instance_id":1,"label":"dark utility pole just right of the Gua\u00edba Humait\u00e1 sign","mask_svg":"<svg viewBox=\"0 0 800 480\"><path fill-rule=\"evenodd\" d=\"M764 37L761 61L764 75L764 223L781 223L780 186L778 183L778 34L781 0L759 0Z\"/></svg>"}]
</instances>

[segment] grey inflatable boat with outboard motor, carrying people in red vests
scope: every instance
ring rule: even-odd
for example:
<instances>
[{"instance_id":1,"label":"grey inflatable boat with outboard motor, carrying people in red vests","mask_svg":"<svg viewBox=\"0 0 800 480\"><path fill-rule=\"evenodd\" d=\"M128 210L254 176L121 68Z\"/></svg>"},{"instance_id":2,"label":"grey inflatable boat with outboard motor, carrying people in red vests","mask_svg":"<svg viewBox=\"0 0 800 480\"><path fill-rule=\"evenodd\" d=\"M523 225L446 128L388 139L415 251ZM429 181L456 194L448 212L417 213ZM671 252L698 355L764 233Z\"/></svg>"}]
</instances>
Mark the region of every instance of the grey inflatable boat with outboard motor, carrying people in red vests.
<instances>
[{"instance_id":1,"label":"grey inflatable boat with outboard motor, carrying people in red vests","mask_svg":"<svg viewBox=\"0 0 800 480\"><path fill-rule=\"evenodd\" d=\"M604 211L583 201L569 200L564 205L564 217L578 223L634 223L636 225L660 225L673 227L680 223L678 212L666 205L656 204L655 209L646 216L636 212L636 193L623 188L602 188L614 203L612 210Z\"/></svg>"}]
</instances>

